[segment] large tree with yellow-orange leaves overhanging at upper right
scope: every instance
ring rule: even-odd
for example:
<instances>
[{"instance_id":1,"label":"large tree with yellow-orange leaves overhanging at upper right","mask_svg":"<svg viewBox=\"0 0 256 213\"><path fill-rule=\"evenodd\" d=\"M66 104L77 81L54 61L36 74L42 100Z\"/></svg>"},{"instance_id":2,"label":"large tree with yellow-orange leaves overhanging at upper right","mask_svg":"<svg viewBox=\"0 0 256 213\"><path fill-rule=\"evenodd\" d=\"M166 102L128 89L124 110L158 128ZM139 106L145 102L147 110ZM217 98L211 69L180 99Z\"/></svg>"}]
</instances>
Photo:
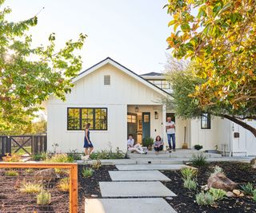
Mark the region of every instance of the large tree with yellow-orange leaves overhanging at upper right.
<instances>
[{"instance_id":1,"label":"large tree with yellow-orange leaves overhanging at upper right","mask_svg":"<svg viewBox=\"0 0 256 213\"><path fill-rule=\"evenodd\" d=\"M169 0L166 7L174 57L193 61L202 80L189 97L256 136L244 121L256 119L256 1Z\"/></svg>"}]
</instances>

